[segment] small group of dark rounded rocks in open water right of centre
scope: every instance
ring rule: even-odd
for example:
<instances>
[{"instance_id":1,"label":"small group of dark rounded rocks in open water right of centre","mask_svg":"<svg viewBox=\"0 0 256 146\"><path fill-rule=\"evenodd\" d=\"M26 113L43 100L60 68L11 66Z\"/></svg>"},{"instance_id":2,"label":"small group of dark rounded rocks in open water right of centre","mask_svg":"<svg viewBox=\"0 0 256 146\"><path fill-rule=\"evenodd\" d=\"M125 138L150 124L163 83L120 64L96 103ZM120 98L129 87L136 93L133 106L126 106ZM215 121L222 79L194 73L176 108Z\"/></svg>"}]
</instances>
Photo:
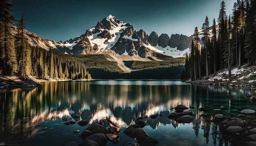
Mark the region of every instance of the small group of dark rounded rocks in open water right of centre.
<instances>
[{"instance_id":1,"label":"small group of dark rounded rocks in open water right of centre","mask_svg":"<svg viewBox=\"0 0 256 146\"><path fill-rule=\"evenodd\" d=\"M178 123L191 123L194 120L192 117L193 111L187 110L189 109L188 107L180 104L177 105L174 109L175 112L167 116L169 119L173 119Z\"/></svg>"}]
</instances>

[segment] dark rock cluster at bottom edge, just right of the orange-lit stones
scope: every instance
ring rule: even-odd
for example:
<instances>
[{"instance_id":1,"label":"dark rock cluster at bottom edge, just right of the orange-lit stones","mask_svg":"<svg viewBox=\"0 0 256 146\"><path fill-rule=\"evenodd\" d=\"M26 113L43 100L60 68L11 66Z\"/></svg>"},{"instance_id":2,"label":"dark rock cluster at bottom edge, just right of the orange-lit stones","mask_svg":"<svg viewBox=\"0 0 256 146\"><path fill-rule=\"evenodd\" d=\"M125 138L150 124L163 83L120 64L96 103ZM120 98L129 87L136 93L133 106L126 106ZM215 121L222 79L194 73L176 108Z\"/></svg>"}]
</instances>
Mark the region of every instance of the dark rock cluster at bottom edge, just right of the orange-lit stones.
<instances>
[{"instance_id":1,"label":"dark rock cluster at bottom edge, just right of the orange-lit stones","mask_svg":"<svg viewBox=\"0 0 256 146\"><path fill-rule=\"evenodd\" d=\"M137 139L138 144L141 146L155 146L158 144L158 140L154 137L150 137L146 131L142 128L146 126L146 122L142 120L142 117L137 118L135 124L129 126L124 130L124 133L132 139ZM129 144L129 145L128 145ZM128 143L126 146L139 146L136 143Z\"/></svg>"}]
</instances>

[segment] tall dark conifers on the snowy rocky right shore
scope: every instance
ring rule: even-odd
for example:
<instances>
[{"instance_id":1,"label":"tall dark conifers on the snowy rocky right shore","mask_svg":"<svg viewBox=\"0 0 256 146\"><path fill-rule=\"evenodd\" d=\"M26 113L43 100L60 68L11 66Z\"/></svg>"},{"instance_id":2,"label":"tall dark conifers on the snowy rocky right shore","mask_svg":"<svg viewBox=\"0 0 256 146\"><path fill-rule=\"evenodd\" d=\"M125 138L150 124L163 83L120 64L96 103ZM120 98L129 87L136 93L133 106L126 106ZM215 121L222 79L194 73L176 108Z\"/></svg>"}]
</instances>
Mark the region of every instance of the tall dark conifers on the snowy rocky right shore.
<instances>
[{"instance_id":1,"label":"tall dark conifers on the snowy rocky right shore","mask_svg":"<svg viewBox=\"0 0 256 146\"><path fill-rule=\"evenodd\" d=\"M231 66L240 68L242 64L256 62L256 0L237 0L233 13L226 14L225 2L220 4L219 17L210 22L206 16L202 33L195 27L191 53L186 53L182 79L196 80ZM202 42L200 44L200 42Z\"/></svg>"}]
</instances>

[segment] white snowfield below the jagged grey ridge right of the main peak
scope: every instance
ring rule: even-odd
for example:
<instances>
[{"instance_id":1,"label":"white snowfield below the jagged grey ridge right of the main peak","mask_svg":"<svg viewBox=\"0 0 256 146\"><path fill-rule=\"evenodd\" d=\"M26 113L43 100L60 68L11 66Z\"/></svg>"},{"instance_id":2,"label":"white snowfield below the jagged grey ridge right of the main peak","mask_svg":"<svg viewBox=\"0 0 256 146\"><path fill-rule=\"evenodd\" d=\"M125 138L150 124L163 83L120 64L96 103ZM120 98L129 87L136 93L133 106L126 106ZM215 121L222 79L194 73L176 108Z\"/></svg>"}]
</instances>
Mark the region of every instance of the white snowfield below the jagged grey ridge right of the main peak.
<instances>
[{"instance_id":1,"label":"white snowfield below the jagged grey ridge right of the main peak","mask_svg":"<svg viewBox=\"0 0 256 146\"><path fill-rule=\"evenodd\" d=\"M156 51L163 55L172 56L172 57L186 56L186 52L190 53L189 48L187 48L183 51L180 51L180 50L177 50L177 47L171 48L170 46L167 46L167 47L163 48L162 46L158 46L158 45L157 46L151 46L150 44L148 44L148 45L144 44L144 45L153 51Z\"/></svg>"}]
</instances>

